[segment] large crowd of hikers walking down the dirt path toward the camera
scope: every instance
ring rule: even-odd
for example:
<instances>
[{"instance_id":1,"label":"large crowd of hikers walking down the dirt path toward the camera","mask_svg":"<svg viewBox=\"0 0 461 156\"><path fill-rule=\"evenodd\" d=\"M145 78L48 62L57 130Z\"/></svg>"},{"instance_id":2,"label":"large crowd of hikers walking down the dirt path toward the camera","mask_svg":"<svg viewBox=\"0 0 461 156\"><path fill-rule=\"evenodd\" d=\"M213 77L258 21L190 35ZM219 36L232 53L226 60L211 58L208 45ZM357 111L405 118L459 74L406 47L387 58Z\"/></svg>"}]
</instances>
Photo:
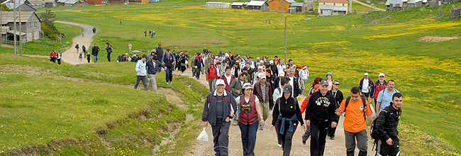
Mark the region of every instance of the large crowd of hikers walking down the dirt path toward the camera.
<instances>
[{"instance_id":1,"label":"large crowd of hikers walking down the dirt path toward the camera","mask_svg":"<svg viewBox=\"0 0 461 156\"><path fill-rule=\"evenodd\" d=\"M228 155L231 125L240 128L243 155L255 155L257 130L265 129L271 110L270 130L275 131L283 155L290 155L297 127L303 130L300 140L304 144L311 137L311 155L323 155L326 137L335 139L340 116L344 118L347 155L355 155L356 146L360 150L358 155L367 155L366 121L370 125L374 121L376 155L400 153L396 128L403 97L394 89L395 81L386 82L383 73L377 82L365 73L359 85L350 89L350 96L344 98L339 90L340 81L333 79L331 72L326 79L316 77L309 89L307 66L296 66L292 60L285 64L277 56L274 60L267 56L253 60L247 55L222 51L215 56L204 48L204 52L192 56L191 69L196 79L204 73L209 82L210 94L206 97L202 121L213 131L215 155ZM306 99L301 94L306 94ZM374 107L368 102L370 97L374 99Z\"/></svg>"}]
</instances>

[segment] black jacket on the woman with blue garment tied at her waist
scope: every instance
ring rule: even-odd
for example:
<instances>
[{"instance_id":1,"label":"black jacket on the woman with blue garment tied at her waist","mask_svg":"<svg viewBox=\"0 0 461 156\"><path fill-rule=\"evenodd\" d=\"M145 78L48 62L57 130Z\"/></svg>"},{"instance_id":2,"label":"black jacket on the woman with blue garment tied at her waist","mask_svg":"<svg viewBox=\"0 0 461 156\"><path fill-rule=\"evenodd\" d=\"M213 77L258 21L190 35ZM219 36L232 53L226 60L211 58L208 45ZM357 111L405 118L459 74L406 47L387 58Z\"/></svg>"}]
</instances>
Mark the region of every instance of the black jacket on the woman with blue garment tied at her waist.
<instances>
[{"instance_id":1,"label":"black jacket on the woman with blue garment tied at her waist","mask_svg":"<svg viewBox=\"0 0 461 156\"><path fill-rule=\"evenodd\" d=\"M280 110L279 110L280 109ZM303 116L301 110L299 110L298 100L293 97L285 99L284 96L277 99L277 102L274 104L274 111L272 111L272 125L275 126L275 122L279 119L279 115L282 118L291 118L296 114L299 123L304 125ZM292 123L298 123L298 121L292 121Z\"/></svg>"}]
</instances>

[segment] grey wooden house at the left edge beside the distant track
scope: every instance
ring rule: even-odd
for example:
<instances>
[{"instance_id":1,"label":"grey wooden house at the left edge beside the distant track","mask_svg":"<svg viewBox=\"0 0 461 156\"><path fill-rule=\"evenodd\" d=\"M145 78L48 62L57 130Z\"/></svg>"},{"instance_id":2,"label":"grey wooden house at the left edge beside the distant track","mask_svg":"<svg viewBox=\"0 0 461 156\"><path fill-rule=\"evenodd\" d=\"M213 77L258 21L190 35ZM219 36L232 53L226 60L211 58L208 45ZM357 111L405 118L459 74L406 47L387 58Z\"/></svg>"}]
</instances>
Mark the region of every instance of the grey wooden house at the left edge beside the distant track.
<instances>
[{"instance_id":1,"label":"grey wooden house at the left edge beside the distant track","mask_svg":"<svg viewBox=\"0 0 461 156\"><path fill-rule=\"evenodd\" d=\"M3 11L1 13L1 38L5 43L14 43L14 13L13 11ZM21 31L19 30L21 22ZM42 24L35 11L21 11L21 21L16 16L16 40L26 43L41 38Z\"/></svg>"}]
</instances>

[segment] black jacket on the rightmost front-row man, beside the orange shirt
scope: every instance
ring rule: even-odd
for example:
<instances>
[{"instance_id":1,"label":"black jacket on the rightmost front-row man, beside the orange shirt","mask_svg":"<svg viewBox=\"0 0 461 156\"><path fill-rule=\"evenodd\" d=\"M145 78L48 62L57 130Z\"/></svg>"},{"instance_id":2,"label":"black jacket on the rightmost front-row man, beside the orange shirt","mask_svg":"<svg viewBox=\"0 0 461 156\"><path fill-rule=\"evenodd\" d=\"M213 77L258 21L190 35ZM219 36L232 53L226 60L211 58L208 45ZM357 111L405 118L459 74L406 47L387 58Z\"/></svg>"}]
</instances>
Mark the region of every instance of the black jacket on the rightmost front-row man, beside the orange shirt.
<instances>
[{"instance_id":1,"label":"black jacket on the rightmost front-row man, beside the orange shirt","mask_svg":"<svg viewBox=\"0 0 461 156\"><path fill-rule=\"evenodd\" d=\"M399 126L400 116L401 108L396 110L392 104L384 108L381 113L379 113L375 123L379 139L386 141L389 138L392 140L397 138L397 135L399 135L397 126Z\"/></svg>"}]
</instances>

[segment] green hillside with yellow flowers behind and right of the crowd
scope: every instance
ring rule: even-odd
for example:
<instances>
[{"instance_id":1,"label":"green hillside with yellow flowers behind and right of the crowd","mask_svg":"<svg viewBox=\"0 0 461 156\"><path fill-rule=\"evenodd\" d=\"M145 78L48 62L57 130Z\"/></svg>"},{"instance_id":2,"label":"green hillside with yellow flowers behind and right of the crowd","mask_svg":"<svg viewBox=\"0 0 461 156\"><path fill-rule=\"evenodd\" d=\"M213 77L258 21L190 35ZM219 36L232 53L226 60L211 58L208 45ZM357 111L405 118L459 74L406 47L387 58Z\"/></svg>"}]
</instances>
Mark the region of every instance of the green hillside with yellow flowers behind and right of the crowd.
<instances>
[{"instance_id":1,"label":"green hillside with yellow flowers behind and right of the crowd","mask_svg":"<svg viewBox=\"0 0 461 156\"><path fill-rule=\"evenodd\" d=\"M358 84L363 72L370 73L373 80L384 72L388 80L396 80L396 89L405 95L402 122L460 149L461 135L457 131L461 129L455 124L461 108L461 99L457 98L461 95L460 39L417 41L425 36L460 35L461 21L448 21L451 7L322 18L291 14L287 57L296 65L308 65L311 77L333 72L345 92ZM440 10L444 16L437 17ZM226 9L223 35L221 9L173 7L57 14L62 21L98 27L101 33L96 34L96 43L109 41L116 53L126 52L128 43L135 50L149 50L162 43L173 50L199 52L206 47L212 52L224 50L253 57L282 57L284 52L284 25L279 13ZM306 16L313 19L303 19ZM119 19L123 19L123 25ZM144 38L144 30L155 30L156 38Z\"/></svg>"}]
</instances>

